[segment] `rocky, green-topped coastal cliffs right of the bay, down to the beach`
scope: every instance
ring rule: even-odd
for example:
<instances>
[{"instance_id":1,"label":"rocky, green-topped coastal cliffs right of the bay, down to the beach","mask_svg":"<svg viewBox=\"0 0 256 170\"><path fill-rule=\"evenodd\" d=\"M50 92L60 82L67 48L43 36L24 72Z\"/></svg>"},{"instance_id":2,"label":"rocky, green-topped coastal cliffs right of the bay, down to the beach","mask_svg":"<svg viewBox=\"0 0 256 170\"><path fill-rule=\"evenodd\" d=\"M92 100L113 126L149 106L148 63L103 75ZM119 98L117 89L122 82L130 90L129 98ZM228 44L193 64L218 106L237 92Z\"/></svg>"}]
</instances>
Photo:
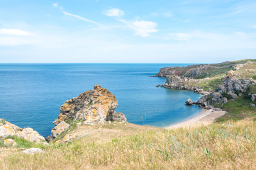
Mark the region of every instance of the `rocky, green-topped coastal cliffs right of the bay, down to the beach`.
<instances>
[{"instance_id":1,"label":"rocky, green-topped coastal cliffs right of the bay, down to the beach","mask_svg":"<svg viewBox=\"0 0 256 170\"><path fill-rule=\"evenodd\" d=\"M236 64L232 64L236 63ZM243 64L242 64L243 63ZM228 64L226 66L223 66ZM240 60L235 62L223 62L218 64L218 66L223 66L228 68L228 72L223 72L223 67L221 70L215 70L210 72L208 75L214 75L214 77L205 77L204 79L199 79L198 74L184 74L180 72L182 69L187 70L194 68L194 70L208 70L209 65L193 65L189 67L168 67L169 69L163 68L160 70L165 70L165 74L161 71L159 74L161 77L166 77L166 83L162 84L162 87L169 89L183 89L191 90L203 96L199 101L191 101L189 98L185 103L187 105L196 104L202 108L206 109L223 109L228 111L228 114L223 117L237 112L235 107L230 105L240 106L243 102L243 109L239 111L241 118L246 118L246 115L255 112L255 96L256 96L256 62L255 60ZM207 66L207 67L205 67ZM216 64L215 64L216 66ZM204 69L203 69L204 68ZM177 70L175 70L177 69ZM167 70L172 70L172 72L167 72ZM189 77L180 77L179 75L189 75ZM157 85L160 86L160 85ZM247 114L244 114L247 113ZM230 116L230 118L236 118L237 115ZM229 118L229 117L227 117ZM226 120L226 119L225 119Z\"/></svg>"}]
</instances>

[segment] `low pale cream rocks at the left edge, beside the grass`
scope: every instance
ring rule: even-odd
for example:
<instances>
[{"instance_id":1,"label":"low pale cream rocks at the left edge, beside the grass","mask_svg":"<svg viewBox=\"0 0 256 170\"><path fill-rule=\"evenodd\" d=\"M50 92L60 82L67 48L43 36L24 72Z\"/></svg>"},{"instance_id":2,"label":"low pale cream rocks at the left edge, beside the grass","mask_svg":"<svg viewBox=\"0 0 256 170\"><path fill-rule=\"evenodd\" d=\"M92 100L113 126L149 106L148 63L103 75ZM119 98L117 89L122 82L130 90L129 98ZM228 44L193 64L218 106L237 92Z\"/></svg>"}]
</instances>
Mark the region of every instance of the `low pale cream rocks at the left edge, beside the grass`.
<instances>
[{"instance_id":1,"label":"low pale cream rocks at the left edge, beside the grass","mask_svg":"<svg viewBox=\"0 0 256 170\"><path fill-rule=\"evenodd\" d=\"M38 132L32 128L19 128L7 121L0 124L0 137L5 138L9 136L23 137L30 142L45 142L45 138L40 136Z\"/></svg>"}]
</instances>

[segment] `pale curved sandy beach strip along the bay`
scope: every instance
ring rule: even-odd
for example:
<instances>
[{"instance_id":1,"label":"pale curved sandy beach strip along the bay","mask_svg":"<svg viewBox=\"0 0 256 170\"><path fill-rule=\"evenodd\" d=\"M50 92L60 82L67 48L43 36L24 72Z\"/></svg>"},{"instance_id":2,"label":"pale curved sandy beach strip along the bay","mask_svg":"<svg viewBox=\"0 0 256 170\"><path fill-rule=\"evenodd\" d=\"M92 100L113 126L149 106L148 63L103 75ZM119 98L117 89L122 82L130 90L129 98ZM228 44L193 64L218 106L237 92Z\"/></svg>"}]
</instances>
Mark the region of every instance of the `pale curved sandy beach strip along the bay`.
<instances>
[{"instance_id":1,"label":"pale curved sandy beach strip along the bay","mask_svg":"<svg viewBox=\"0 0 256 170\"><path fill-rule=\"evenodd\" d=\"M177 123L175 125L170 125L166 127L167 129L172 128L183 128L183 127L191 127L191 126L199 126L199 125L209 125L213 123L213 120L224 115L225 111L213 111L213 110L205 110L204 112L196 115L194 118L189 120L185 120L181 123Z\"/></svg>"}]
</instances>

